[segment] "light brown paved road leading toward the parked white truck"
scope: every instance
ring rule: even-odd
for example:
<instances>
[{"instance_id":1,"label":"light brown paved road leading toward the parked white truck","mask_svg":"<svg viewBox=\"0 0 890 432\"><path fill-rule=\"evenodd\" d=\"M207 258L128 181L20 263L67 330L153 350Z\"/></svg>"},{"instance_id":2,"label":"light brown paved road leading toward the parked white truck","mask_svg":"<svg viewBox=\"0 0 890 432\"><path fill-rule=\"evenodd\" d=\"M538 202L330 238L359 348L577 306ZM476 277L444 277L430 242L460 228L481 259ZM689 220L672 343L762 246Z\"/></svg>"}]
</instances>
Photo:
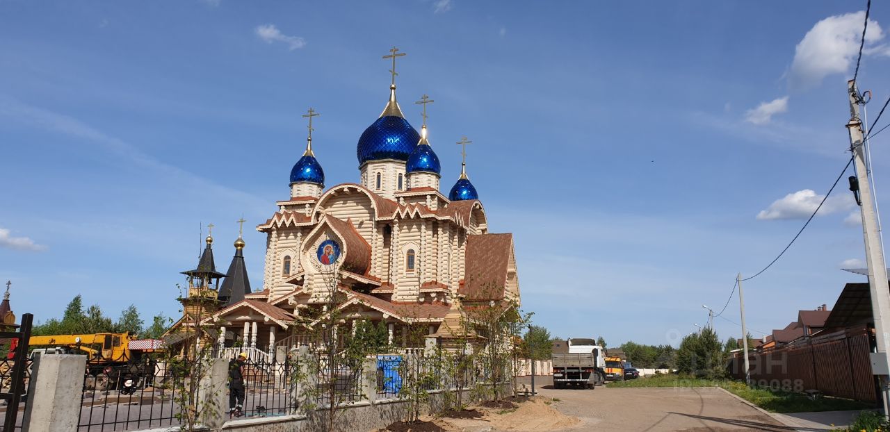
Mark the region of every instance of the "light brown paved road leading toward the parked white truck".
<instances>
[{"instance_id":1,"label":"light brown paved road leading toward the parked white truck","mask_svg":"<svg viewBox=\"0 0 890 432\"><path fill-rule=\"evenodd\" d=\"M524 380L528 382L528 380ZM578 417L571 430L684 432L793 431L719 388L554 389L536 377L538 394L554 397L557 410ZM543 386L542 386L543 384Z\"/></svg>"}]
</instances>

